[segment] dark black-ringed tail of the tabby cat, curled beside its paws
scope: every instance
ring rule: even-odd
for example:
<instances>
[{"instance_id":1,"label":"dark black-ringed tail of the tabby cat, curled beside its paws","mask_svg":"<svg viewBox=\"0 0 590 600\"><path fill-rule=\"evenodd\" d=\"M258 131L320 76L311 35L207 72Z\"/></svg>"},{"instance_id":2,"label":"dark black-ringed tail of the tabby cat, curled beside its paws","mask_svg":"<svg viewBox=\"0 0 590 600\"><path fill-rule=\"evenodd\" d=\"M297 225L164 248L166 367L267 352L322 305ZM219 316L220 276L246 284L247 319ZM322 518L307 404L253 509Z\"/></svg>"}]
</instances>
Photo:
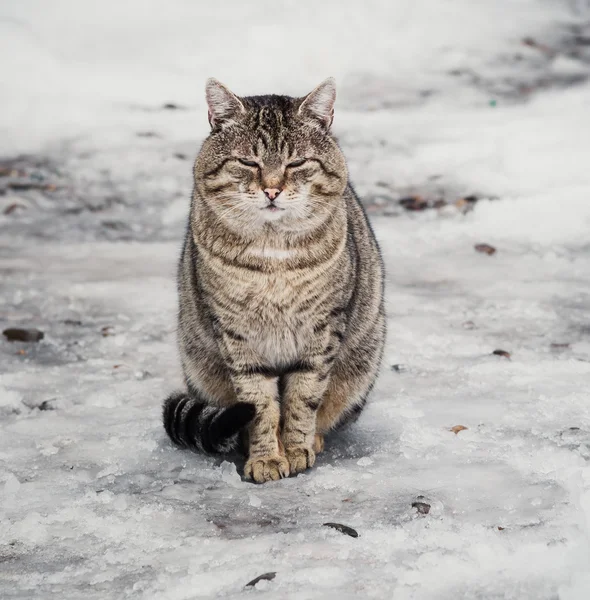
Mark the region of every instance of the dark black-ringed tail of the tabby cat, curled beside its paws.
<instances>
[{"instance_id":1,"label":"dark black-ringed tail of the tabby cat, curled beside its paws","mask_svg":"<svg viewBox=\"0 0 590 600\"><path fill-rule=\"evenodd\" d=\"M239 448L238 434L254 414L254 406L245 402L220 407L186 392L175 392L164 400L162 418L166 433L178 446L217 454Z\"/></svg>"}]
</instances>

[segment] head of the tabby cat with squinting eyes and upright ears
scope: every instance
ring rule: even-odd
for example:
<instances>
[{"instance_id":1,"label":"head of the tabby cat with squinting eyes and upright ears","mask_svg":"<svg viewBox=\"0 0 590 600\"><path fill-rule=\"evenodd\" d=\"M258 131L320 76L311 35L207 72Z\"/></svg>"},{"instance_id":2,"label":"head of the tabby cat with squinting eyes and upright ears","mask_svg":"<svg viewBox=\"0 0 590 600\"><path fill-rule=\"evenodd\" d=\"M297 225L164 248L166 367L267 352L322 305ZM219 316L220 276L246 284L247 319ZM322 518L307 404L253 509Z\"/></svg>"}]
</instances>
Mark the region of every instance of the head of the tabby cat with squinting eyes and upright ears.
<instances>
[{"instance_id":1,"label":"head of the tabby cat with squinting eyes and upright ears","mask_svg":"<svg viewBox=\"0 0 590 600\"><path fill-rule=\"evenodd\" d=\"M235 231L305 232L342 210L346 161L330 135L336 86L303 98L238 97L206 86L211 133L195 162L195 187Z\"/></svg>"}]
</instances>

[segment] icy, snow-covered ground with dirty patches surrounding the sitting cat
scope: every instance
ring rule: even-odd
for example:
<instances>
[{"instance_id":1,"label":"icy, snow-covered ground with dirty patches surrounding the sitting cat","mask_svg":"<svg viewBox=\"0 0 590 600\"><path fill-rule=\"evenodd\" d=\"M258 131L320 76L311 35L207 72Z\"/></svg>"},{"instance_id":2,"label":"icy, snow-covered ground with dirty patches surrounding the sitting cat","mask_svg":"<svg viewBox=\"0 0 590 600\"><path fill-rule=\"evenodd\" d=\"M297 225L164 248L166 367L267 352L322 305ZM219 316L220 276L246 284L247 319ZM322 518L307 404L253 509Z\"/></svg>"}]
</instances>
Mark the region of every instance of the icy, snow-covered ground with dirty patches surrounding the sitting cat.
<instances>
[{"instance_id":1,"label":"icy, snow-covered ground with dirty patches surrounding the sitting cat","mask_svg":"<svg viewBox=\"0 0 590 600\"><path fill-rule=\"evenodd\" d=\"M0 6L0 597L586 600L590 5L215 4ZM160 424L211 75L337 77L388 269L373 402L264 486Z\"/></svg>"}]
</instances>

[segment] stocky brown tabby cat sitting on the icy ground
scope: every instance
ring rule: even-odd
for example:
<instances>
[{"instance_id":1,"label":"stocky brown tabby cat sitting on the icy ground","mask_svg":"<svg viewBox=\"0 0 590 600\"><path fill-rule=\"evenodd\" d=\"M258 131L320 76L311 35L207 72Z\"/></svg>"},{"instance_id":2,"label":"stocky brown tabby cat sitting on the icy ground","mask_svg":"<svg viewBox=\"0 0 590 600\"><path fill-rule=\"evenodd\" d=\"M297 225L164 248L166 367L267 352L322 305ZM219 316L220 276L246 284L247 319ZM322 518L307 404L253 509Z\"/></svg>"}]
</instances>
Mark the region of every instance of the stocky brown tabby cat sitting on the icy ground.
<instances>
[{"instance_id":1,"label":"stocky brown tabby cat sitting on the icy ground","mask_svg":"<svg viewBox=\"0 0 590 600\"><path fill-rule=\"evenodd\" d=\"M303 98L206 85L211 132L194 164L178 269L187 390L164 402L173 442L246 446L261 483L312 467L354 421L385 338L383 262L330 133L336 86Z\"/></svg>"}]
</instances>

